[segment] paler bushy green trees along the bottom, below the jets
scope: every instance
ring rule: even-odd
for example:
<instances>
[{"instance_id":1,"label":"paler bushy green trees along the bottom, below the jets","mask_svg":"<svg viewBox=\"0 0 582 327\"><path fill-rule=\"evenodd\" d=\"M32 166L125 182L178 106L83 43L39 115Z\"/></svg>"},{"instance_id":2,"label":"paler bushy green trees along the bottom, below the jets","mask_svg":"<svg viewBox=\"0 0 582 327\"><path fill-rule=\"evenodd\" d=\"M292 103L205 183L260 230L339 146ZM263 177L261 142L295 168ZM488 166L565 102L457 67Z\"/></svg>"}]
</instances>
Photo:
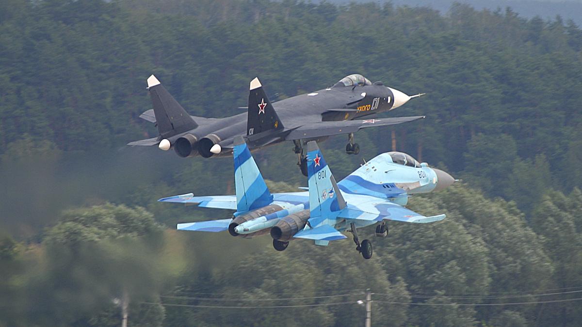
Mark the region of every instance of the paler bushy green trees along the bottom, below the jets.
<instances>
[{"instance_id":1,"label":"paler bushy green trees along the bottom, below the jets","mask_svg":"<svg viewBox=\"0 0 582 327\"><path fill-rule=\"evenodd\" d=\"M0 322L117 325L127 301L129 321L144 326L353 326L363 317L355 302L371 289L380 325L577 325L577 302L501 304L579 297L579 189L544 196L529 223L512 202L488 200L462 185L413 198L411 208L445 212L447 219L391 223L388 239L375 238L369 261L350 240L328 247L294 241L279 253L265 238L245 243L226 234L164 232L140 207L65 211L40 243L2 237ZM364 230L363 237L372 232ZM248 311L197 305L317 306Z\"/></svg>"}]
</instances>

